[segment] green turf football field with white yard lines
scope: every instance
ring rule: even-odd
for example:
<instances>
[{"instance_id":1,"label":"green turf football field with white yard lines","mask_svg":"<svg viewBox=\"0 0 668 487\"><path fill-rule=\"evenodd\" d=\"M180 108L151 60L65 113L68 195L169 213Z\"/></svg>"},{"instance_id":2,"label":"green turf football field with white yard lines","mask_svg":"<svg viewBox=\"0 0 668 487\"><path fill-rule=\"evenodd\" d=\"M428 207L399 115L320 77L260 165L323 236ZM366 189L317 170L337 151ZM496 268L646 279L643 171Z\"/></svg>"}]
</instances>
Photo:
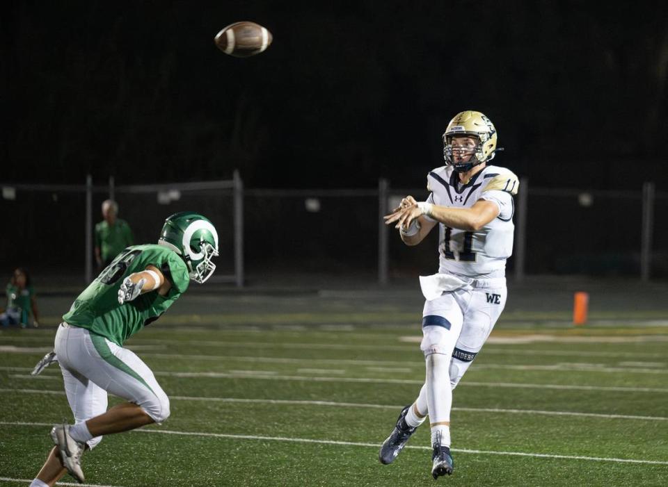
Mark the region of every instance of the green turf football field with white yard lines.
<instances>
[{"instance_id":1,"label":"green turf football field with white yard lines","mask_svg":"<svg viewBox=\"0 0 668 487\"><path fill-rule=\"evenodd\" d=\"M127 342L172 414L85 454L89 485L668 485L662 324L504 316L454 392L455 471L434 481L428 427L395 463L378 461L424 377L420 327L410 324L419 307L228 301L205 316L175 306ZM50 425L71 420L57 365L29 375L53 337L54 327L0 333L1 485L27 485Z\"/></svg>"}]
</instances>

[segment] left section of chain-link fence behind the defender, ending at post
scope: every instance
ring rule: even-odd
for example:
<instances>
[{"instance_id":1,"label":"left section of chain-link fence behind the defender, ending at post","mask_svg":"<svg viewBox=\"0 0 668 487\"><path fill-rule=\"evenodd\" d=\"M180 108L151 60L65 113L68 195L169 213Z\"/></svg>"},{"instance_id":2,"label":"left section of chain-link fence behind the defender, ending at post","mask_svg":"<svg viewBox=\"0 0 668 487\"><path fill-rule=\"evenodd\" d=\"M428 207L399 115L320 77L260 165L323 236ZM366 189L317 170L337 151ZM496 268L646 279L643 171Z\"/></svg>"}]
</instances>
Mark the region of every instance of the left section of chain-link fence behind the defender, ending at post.
<instances>
[{"instance_id":1,"label":"left section of chain-link fence behind the defender, ending at post","mask_svg":"<svg viewBox=\"0 0 668 487\"><path fill-rule=\"evenodd\" d=\"M118 203L118 218L128 222L134 243L157 243L166 217L197 211L217 229L221 248L216 258L217 281L241 285L241 181L126 185L3 185L2 214L6 237L0 240L0 265L32 274L61 276L57 281L90 281L95 265L93 232L102 221L102 201Z\"/></svg>"}]
</instances>

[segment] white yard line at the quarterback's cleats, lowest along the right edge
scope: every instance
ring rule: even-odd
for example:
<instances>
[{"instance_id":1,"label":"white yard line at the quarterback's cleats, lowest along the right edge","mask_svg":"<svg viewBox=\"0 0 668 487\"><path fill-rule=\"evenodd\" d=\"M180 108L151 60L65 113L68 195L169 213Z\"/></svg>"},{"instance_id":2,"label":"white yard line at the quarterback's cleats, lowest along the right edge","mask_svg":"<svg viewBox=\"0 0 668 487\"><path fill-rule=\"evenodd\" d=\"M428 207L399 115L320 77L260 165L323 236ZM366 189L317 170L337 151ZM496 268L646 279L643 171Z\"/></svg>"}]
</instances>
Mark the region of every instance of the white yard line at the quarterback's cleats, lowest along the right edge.
<instances>
[{"instance_id":1,"label":"white yard line at the quarterback's cleats, lowest along the right edge","mask_svg":"<svg viewBox=\"0 0 668 487\"><path fill-rule=\"evenodd\" d=\"M0 424L8 426L52 426L51 423L35 423L35 422L6 422L0 421ZM355 447L374 447L381 446L380 443L361 443L353 441L337 441L337 440L315 440L311 438L286 438L283 436L256 436L256 435L232 435L223 433L200 433L199 431L174 431L170 429L135 429L132 432L136 433L154 433L154 434L170 434L180 436L205 436L209 438L230 438L233 440L270 440L270 441L285 441L290 443L318 443L320 445L342 445ZM411 446L406 448L423 449L431 451L431 447ZM479 449L464 449L452 448L453 452L472 453L472 454L489 454L489 455L512 455L512 456L532 456L543 459L564 459L564 460L590 460L590 461L612 461L617 463L645 463L651 465L668 465L668 461L659 460L635 460L635 459L611 459L601 456L575 456L575 455L553 455L546 453L527 453L527 452L493 452L489 450Z\"/></svg>"}]
</instances>

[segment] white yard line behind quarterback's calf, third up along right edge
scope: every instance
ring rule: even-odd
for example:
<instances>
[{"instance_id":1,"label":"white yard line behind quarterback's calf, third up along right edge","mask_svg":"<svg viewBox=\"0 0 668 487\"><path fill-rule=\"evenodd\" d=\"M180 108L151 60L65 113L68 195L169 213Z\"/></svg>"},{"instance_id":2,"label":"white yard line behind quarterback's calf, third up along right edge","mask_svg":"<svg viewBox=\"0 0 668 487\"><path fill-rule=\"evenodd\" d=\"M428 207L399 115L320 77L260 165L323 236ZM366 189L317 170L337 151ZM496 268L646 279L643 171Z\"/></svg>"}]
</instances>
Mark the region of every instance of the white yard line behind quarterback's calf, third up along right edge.
<instances>
[{"instance_id":1,"label":"white yard line behind quarterback's calf, third up along right edge","mask_svg":"<svg viewBox=\"0 0 668 487\"><path fill-rule=\"evenodd\" d=\"M27 367L0 367L0 370L32 370ZM360 383L402 383L422 384L424 381L415 379L372 379L369 377L305 377L293 375L250 375L250 374L228 374L225 372L154 372L155 375L165 377L212 377L216 379L258 379L258 380L283 380L283 381L311 381L311 382L360 382ZM33 377L26 375L27 377ZM556 389L556 390L609 390L614 392L630 393L668 393L668 388L658 387L625 387L625 386L567 386L562 384L534 384L525 382L476 382L463 381L459 387L502 387L523 389Z\"/></svg>"}]
</instances>

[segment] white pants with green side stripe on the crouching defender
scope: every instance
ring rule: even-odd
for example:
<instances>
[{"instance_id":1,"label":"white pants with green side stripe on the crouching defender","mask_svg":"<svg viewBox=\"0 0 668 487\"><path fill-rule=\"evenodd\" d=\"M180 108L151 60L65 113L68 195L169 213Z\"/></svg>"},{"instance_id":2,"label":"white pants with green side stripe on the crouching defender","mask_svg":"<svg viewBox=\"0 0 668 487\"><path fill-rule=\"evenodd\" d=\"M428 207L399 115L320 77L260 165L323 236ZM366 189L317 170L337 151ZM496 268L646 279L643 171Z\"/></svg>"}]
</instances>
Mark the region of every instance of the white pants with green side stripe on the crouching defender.
<instances>
[{"instance_id":1,"label":"white pants with green side stripe on the crouching defender","mask_svg":"<svg viewBox=\"0 0 668 487\"><path fill-rule=\"evenodd\" d=\"M138 404L157 423L168 418L167 395L134 352L67 323L58 327L54 349L74 422L106 412L107 393ZM88 446L93 448L100 440L97 436Z\"/></svg>"}]
</instances>

